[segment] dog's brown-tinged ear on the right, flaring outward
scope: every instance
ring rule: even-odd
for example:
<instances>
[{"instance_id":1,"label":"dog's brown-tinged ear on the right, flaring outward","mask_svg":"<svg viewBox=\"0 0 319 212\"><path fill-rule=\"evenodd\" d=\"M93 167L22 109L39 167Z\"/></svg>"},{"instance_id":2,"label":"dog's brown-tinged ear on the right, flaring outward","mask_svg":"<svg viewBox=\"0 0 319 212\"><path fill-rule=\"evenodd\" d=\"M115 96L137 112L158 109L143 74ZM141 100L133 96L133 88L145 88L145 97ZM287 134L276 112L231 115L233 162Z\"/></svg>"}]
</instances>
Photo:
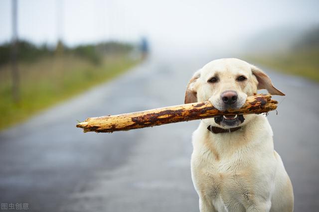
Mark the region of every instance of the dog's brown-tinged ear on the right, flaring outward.
<instances>
[{"instance_id":1,"label":"dog's brown-tinged ear on the right, flaring outward","mask_svg":"<svg viewBox=\"0 0 319 212\"><path fill-rule=\"evenodd\" d=\"M272 95L285 96L285 94L274 87L268 75L256 66L251 65L251 72L258 81L257 89L266 89Z\"/></svg>"}]
</instances>

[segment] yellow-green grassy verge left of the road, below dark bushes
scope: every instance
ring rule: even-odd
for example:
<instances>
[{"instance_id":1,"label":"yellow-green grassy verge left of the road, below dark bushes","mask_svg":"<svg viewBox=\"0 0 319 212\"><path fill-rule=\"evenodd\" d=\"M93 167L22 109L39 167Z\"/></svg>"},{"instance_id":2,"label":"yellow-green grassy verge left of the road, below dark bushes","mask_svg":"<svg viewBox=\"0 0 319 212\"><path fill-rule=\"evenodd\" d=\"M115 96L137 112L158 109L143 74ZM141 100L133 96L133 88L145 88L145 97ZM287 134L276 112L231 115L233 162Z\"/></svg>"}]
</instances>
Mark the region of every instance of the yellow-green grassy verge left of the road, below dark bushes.
<instances>
[{"instance_id":1,"label":"yellow-green grassy verge left of the road, below dark bushes","mask_svg":"<svg viewBox=\"0 0 319 212\"><path fill-rule=\"evenodd\" d=\"M18 64L19 104L12 99L10 66L3 65L0 67L0 129L106 82L139 62L124 54L105 57L99 65L74 55L21 62Z\"/></svg>"}]
</instances>

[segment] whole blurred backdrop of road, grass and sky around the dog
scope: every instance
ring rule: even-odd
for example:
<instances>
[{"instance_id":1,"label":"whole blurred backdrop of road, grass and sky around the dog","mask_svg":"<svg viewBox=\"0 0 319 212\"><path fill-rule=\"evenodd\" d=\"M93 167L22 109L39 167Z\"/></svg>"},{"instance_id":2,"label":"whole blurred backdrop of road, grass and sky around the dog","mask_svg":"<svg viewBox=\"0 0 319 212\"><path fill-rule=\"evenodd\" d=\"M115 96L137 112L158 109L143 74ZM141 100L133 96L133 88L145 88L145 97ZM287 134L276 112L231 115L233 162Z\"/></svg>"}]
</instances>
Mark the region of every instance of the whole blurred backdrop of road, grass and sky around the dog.
<instances>
[{"instance_id":1,"label":"whole blurred backdrop of road, grass and sky around the dog","mask_svg":"<svg viewBox=\"0 0 319 212\"><path fill-rule=\"evenodd\" d=\"M319 207L319 1L1 0L1 210L199 211L199 121L83 133L87 117L183 104L192 73L237 57L285 97L268 118L295 211ZM265 92L265 91L264 91Z\"/></svg>"}]
</instances>

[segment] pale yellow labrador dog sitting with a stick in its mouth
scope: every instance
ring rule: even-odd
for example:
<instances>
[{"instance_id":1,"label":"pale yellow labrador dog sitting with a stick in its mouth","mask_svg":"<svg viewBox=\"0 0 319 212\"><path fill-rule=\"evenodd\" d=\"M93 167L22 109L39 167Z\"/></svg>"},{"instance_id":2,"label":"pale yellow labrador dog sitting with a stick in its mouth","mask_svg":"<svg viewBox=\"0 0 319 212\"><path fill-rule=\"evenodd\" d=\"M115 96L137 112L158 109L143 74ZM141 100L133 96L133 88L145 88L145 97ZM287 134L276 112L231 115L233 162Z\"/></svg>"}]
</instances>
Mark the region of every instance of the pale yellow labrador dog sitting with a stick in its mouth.
<instances>
[{"instance_id":1,"label":"pale yellow labrador dog sitting with a stick in its mouth","mask_svg":"<svg viewBox=\"0 0 319 212\"><path fill-rule=\"evenodd\" d=\"M219 110L239 108L258 89L284 96L259 68L235 58L214 60L193 75L185 104L209 100ZM200 212L293 211L293 187L265 115L203 119L192 143Z\"/></svg>"}]
</instances>

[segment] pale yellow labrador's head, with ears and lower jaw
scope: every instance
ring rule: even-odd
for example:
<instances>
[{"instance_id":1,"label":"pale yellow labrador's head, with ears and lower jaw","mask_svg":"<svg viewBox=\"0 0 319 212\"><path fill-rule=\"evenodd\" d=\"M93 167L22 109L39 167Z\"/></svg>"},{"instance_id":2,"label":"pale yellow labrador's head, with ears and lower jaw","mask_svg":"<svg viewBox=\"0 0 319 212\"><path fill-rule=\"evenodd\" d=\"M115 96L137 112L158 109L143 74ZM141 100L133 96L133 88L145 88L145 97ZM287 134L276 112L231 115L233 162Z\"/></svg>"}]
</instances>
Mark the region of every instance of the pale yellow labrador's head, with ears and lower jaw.
<instances>
[{"instance_id":1,"label":"pale yellow labrador's head, with ears and lower jaw","mask_svg":"<svg viewBox=\"0 0 319 212\"><path fill-rule=\"evenodd\" d=\"M272 95L285 96L256 66L235 58L214 60L195 72L190 79L185 104L210 101L219 110L237 109L244 105L247 96L256 94L258 89L266 89ZM243 124L245 119L248 122L250 117L229 115L203 121L208 125L231 128Z\"/></svg>"}]
</instances>

